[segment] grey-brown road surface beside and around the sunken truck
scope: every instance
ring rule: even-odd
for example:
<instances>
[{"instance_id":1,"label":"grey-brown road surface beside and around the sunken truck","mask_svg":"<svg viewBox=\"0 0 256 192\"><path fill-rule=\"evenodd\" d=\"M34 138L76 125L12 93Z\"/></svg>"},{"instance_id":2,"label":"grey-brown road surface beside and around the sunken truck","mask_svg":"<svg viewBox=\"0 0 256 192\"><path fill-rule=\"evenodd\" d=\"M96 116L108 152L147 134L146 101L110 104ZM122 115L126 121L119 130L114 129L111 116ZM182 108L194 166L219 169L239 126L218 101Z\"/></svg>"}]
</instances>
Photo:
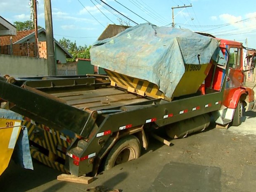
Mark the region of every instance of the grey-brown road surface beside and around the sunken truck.
<instances>
[{"instance_id":1,"label":"grey-brown road surface beside and around the sunken truck","mask_svg":"<svg viewBox=\"0 0 256 192\"><path fill-rule=\"evenodd\" d=\"M85 192L103 185L123 192L255 192L256 111L239 127L211 126L172 140L151 139L139 159L97 175L89 185L57 181L60 172L34 161L34 171L11 162L0 177L1 192Z\"/></svg>"}]
</instances>

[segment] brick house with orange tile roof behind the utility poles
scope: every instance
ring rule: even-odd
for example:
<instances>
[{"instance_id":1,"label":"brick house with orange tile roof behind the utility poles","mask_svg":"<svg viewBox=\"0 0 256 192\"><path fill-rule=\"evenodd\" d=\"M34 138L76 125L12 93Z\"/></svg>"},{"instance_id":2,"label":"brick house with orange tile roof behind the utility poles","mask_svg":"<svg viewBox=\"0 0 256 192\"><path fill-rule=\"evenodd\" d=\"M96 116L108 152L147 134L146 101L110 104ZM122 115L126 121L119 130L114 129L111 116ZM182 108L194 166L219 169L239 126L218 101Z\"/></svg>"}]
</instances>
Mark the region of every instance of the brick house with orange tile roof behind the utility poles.
<instances>
[{"instance_id":1,"label":"brick house with orange tile roof behind the utility poles","mask_svg":"<svg viewBox=\"0 0 256 192\"><path fill-rule=\"evenodd\" d=\"M34 42L34 30L17 31L17 35L1 36L0 46L2 46L2 49L0 53L7 55L26 55L34 57ZM57 63L66 63L66 59L72 58L72 55L64 47L62 47L62 45L60 45L57 40L54 39L54 42ZM5 46L5 50L3 50L3 46ZM46 36L44 28L38 29L38 52L40 58L47 58Z\"/></svg>"}]
</instances>

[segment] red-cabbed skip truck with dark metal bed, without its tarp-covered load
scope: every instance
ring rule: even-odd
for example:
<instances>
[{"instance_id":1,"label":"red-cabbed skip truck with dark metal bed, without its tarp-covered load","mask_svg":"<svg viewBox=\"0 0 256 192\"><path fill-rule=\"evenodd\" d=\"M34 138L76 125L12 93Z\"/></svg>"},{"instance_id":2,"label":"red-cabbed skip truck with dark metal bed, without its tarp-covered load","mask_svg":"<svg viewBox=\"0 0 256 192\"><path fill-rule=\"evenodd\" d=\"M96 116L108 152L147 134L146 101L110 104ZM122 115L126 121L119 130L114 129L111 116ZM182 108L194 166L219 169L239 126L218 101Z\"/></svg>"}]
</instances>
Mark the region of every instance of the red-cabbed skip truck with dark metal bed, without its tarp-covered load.
<instances>
[{"instance_id":1,"label":"red-cabbed skip truck with dark metal bed, without its tarp-covered load","mask_svg":"<svg viewBox=\"0 0 256 192\"><path fill-rule=\"evenodd\" d=\"M240 125L254 107L254 91L243 86L244 47L218 40L226 65L213 63L195 94L166 101L112 86L100 75L0 77L1 106L24 116L33 158L76 176L95 175L102 164L109 169L137 159L157 128L180 138L204 130L210 116L219 126Z\"/></svg>"}]
</instances>

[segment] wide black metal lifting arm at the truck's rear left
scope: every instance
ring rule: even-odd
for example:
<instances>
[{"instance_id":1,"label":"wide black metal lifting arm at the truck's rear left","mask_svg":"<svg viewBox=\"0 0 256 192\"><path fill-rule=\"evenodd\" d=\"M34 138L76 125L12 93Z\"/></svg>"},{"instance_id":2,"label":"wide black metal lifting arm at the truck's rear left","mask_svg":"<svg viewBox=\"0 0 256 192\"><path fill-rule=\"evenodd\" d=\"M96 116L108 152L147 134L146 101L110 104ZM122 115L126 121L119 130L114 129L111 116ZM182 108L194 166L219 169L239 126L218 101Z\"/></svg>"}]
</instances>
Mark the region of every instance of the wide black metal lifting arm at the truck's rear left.
<instances>
[{"instance_id":1,"label":"wide black metal lifting arm at the truck's rear left","mask_svg":"<svg viewBox=\"0 0 256 192\"><path fill-rule=\"evenodd\" d=\"M57 129L81 133L89 117L88 112L46 97L39 90L26 90L0 78L0 98L15 106L10 110ZM86 130L85 130L86 132Z\"/></svg>"}]
</instances>

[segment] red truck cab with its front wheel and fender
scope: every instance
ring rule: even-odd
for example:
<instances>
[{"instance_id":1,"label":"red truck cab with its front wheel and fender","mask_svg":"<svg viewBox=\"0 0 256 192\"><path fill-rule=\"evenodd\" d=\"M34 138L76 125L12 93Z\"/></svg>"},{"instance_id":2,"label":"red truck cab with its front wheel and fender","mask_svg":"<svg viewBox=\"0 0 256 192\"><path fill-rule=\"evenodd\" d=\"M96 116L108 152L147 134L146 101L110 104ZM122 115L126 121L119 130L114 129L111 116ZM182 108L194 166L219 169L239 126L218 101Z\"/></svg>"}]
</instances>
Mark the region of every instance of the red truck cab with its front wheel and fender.
<instances>
[{"instance_id":1,"label":"red truck cab with its front wheel and fender","mask_svg":"<svg viewBox=\"0 0 256 192\"><path fill-rule=\"evenodd\" d=\"M236 41L216 39L220 42L220 49L227 61L228 68L212 67L210 72L215 74L214 78L207 77L205 85L206 88L220 90L225 80L225 74L227 75L222 107L216 115L216 123L226 125L232 122L233 126L239 126L243 112L253 109L255 103L254 91L244 86L243 50L245 47ZM228 71L225 71L227 69Z\"/></svg>"}]
</instances>

